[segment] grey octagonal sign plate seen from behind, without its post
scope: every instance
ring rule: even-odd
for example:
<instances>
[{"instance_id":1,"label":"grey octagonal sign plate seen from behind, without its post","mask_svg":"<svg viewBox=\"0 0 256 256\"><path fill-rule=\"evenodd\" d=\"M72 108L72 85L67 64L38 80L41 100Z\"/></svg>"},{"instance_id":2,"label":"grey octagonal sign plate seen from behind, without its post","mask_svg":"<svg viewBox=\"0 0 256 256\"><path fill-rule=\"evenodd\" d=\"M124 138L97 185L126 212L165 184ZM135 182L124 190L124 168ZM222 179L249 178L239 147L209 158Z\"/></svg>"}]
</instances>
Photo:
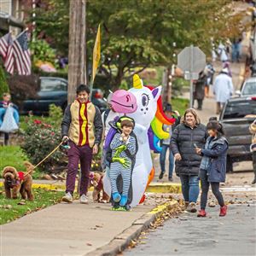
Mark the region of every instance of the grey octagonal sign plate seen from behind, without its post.
<instances>
[{"instance_id":1,"label":"grey octagonal sign plate seen from behind, without its post","mask_svg":"<svg viewBox=\"0 0 256 256\"><path fill-rule=\"evenodd\" d=\"M185 47L177 55L177 67L183 72L200 73L206 67L206 55L198 47Z\"/></svg>"}]
</instances>

